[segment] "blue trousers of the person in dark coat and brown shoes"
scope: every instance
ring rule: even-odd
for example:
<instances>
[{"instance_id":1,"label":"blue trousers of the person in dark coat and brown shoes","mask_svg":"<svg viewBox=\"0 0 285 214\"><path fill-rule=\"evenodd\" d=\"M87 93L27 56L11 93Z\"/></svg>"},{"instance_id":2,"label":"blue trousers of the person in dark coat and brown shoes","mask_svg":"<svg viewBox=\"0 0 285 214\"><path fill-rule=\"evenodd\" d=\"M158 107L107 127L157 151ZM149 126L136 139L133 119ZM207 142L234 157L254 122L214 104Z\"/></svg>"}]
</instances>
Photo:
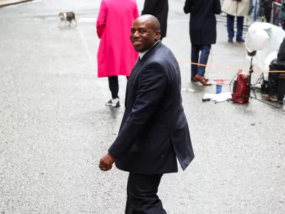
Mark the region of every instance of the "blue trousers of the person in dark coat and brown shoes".
<instances>
[{"instance_id":1,"label":"blue trousers of the person in dark coat and brown shoes","mask_svg":"<svg viewBox=\"0 0 285 214\"><path fill-rule=\"evenodd\" d=\"M211 50L211 45L197 45L191 44L191 62L207 65L209 58L209 51ZM199 52L201 51L200 60ZM194 77L196 74L199 76L204 76L205 66L197 66L191 64L191 76Z\"/></svg>"}]
</instances>

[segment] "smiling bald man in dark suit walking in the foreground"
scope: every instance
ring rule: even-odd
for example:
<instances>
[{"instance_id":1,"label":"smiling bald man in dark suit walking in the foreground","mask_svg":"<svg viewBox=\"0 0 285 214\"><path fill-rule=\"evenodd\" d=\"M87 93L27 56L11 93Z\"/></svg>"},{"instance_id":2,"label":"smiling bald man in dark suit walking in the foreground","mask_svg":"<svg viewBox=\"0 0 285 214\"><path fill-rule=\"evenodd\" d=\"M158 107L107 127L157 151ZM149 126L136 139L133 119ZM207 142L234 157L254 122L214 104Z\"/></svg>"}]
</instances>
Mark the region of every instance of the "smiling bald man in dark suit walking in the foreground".
<instances>
[{"instance_id":1,"label":"smiling bald man in dark suit walking in the foreground","mask_svg":"<svg viewBox=\"0 0 285 214\"><path fill-rule=\"evenodd\" d=\"M130 73L125 113L118 137L100 160L101 170L115 165L129 173L127 214L163 214L157 189L165 173L183 170L194 153L182 107L180 68L172 51L160 41L155 16L140 16L130 39L138 62Z\"/></svg>"}]
</instances>

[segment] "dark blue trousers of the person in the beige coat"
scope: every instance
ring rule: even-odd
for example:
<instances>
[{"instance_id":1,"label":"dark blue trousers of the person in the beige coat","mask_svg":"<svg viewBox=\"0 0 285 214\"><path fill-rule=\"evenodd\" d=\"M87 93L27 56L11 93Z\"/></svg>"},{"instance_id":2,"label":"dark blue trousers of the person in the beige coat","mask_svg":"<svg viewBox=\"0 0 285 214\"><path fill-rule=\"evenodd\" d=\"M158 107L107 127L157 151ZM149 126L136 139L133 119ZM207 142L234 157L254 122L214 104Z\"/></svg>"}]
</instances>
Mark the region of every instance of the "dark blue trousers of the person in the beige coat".
<instances>
[{"instance_id":1,"label":"dark blue trousers of the person in the beige coat","mask_svg":"<svg viewBox=\"0 0 285 214\"><path fill-rule=\"evenodd\" d=\"M237 16L237 40L242 40L244 30L244 16ZM227 14L227 33L229 40L234 39L234 16Z\"/></svg>"}]
</instances>

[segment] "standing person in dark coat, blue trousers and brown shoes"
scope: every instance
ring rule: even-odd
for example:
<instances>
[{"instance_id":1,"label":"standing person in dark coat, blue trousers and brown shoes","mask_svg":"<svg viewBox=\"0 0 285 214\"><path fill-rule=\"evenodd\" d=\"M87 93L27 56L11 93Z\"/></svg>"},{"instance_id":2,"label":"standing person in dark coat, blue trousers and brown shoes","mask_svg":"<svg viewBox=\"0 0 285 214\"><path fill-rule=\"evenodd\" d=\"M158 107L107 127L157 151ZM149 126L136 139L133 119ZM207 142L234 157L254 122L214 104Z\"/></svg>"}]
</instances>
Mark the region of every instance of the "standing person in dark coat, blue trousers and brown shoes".
<instances>
[{"instance_id":1,"label":"standing person in dark coat, blue trousers and brown shoes","mask_svg":"<svg viewBox=\"0 0 285 214\"><path fill-rule=\"evenodd\" d=\"M185 14L190 13L191 62L207 65L212 44L216 44L217 21L214 14L220 14L220 0L186 0ZM199 52L201 56L199 58ZM204 86L211 86L204 78L205 66L191 65L191 81L199 81Z\"/></svg>"}]
</instances>

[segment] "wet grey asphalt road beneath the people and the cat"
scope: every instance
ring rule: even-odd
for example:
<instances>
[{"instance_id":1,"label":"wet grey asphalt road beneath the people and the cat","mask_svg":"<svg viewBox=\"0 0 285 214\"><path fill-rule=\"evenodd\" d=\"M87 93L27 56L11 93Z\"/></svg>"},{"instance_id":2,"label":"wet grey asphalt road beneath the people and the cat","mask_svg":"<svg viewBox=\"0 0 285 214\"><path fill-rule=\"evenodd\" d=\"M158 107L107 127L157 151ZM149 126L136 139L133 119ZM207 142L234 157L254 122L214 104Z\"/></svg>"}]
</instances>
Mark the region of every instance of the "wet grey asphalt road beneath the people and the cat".
<instances>
[{"instance_id":1,"label":"wet grey asphalt road beneath the people and the cat","mask_svg":"<svg viewBox=\"0 0 285 214\"><path fill-rule=\"evenodd\" d=\"M285 213L285 115L252 100L202 103L215 86L190 83L189 16L170 0L164 44L180 61L195 160L165 175L159 196L170 214ZM142 10L143 1L138 1ZM0 9L0 213L124 213L127 173L103 173L100 157L118 133L124 108L108 108L97 78L100 1L32 1ZM74 11L76 29L59 29ZM212 66L248 68L244 46L227 44L219 16ZM115 39L115 34L114 34ZM209 68L211 79L237 71ZM255 78L258 73L254 73ZM125 78L120 77L124 102ZM223 92L229 86L223 86Z\"/></svg>"}]
</instances>

